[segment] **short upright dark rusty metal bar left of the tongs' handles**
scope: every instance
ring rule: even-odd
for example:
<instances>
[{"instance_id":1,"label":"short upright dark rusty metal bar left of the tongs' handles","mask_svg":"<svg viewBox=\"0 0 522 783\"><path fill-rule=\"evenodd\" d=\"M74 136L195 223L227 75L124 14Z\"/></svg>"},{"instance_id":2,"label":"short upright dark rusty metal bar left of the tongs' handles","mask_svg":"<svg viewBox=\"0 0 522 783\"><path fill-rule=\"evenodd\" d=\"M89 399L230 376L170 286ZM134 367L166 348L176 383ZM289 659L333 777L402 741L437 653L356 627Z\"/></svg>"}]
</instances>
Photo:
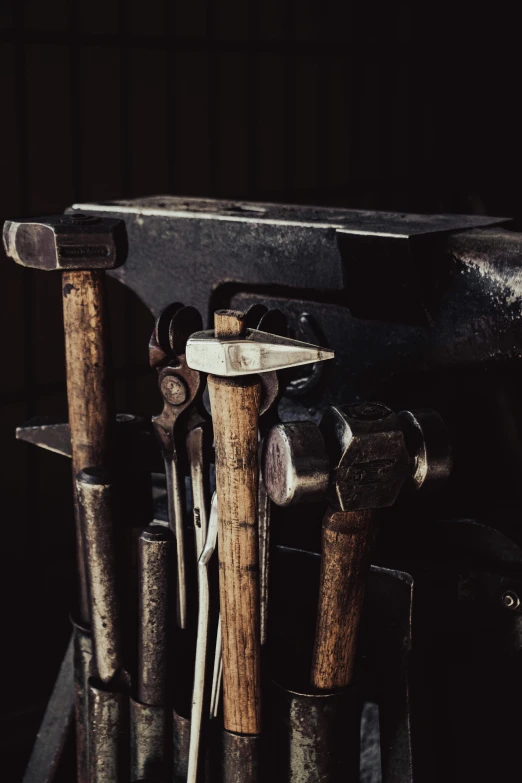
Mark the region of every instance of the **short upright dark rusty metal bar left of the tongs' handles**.
<instances>
[{"instance_id":1,"label":"short upright dark rusty metal bar left of the tongs' handles","mask_svg":"<svg viewBox=\"0 0 522 783\"><path fill-rule=\"evenodd\" d=\"M173 543L170 530L159 525L139 538L138 699L147 705L163 705L167 695Z\"/></svg>"}]
</instances>

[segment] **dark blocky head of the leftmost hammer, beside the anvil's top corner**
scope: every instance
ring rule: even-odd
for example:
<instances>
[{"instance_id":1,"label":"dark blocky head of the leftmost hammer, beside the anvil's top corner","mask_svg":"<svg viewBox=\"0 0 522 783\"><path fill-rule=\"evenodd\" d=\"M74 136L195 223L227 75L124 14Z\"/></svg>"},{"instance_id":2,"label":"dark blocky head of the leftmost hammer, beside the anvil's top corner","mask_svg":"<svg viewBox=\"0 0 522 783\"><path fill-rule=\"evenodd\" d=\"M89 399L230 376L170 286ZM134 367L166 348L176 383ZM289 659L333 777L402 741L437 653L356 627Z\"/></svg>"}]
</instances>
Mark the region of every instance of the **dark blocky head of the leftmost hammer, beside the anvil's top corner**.
<instances>
[{"instance_id":1,"label":"dark blocky head of the leftmost hammer, beside the anvil's top corner","mask_svg":"<svg viewBox=\"0 0 522 783\"><path fill-rule=\"evenodd\" d=\"M34 269L115 269L127 256L123 220L71 213L33 220L7 220L6 254Z\"/></svg>"}]
</instances>

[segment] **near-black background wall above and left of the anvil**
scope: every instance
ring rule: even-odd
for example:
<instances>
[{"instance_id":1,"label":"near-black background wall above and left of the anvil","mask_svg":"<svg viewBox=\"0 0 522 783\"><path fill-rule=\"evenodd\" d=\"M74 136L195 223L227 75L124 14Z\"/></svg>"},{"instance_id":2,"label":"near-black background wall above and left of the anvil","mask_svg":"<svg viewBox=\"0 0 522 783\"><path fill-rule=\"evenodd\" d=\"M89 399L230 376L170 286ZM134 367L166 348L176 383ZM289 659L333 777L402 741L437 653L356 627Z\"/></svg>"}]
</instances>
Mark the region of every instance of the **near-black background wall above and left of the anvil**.
<instances>
[{"instance_id":1,"label":"near-black background wall above and left of the anvil","mask_svg":"<svg viewBox=\"0 0 522 783\"><path fill-rule=\"evenodd\" d=\"M498 4L0 0L0 218L160 193L519 216L517 24ZM114 281L110 303L118 407L150 414L151 317ZM0 777L15 781L73 589L69 465L14 440L65 410L56 275L2 257L0 347Z\"/></svg>"}]
</instances>

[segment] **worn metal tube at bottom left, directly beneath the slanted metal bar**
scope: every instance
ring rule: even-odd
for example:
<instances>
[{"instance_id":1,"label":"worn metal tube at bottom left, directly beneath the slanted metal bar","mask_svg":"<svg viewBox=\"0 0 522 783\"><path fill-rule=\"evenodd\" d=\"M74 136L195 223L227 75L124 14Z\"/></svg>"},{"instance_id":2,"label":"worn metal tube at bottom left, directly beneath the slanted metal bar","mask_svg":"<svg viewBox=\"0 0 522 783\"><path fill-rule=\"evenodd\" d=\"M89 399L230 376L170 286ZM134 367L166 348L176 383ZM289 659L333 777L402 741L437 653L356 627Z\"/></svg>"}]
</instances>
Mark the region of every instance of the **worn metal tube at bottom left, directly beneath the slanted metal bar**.
<instances>
[{"instance_id":1,"label":"worn metal tube at bottom left, directly beneath the slanted metal bar","mask_svg":"<svg viewBox=\"0 0 522 783\"><path fill-rule=\"evenodd\" d=\"M126 783L129 776L128 694L89 681L89 783Z\"/></svg>"}]
</instances>

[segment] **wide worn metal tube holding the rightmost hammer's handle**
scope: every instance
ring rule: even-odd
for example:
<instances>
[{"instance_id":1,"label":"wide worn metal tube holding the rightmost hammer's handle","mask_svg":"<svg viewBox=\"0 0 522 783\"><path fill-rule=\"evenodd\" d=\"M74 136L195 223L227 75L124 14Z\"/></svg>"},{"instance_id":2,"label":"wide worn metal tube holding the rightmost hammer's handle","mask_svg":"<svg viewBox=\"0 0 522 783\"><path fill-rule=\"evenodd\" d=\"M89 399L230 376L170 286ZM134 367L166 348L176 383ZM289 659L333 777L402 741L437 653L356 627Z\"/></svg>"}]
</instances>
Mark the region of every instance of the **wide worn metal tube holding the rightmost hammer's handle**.
<instances>
[{"instance_id":1,"label":"wide worn metal tube holding the rightmost hammer's handle","mask_svg":"<svg viewBox=\"0 0 522 783\"><path fill-rule=\"evenodd\" d=\"M270 722L273 779L281 783L345 783L359 775L357 689L296 693L273 686Z\"/></svg>"}]
</instances>

